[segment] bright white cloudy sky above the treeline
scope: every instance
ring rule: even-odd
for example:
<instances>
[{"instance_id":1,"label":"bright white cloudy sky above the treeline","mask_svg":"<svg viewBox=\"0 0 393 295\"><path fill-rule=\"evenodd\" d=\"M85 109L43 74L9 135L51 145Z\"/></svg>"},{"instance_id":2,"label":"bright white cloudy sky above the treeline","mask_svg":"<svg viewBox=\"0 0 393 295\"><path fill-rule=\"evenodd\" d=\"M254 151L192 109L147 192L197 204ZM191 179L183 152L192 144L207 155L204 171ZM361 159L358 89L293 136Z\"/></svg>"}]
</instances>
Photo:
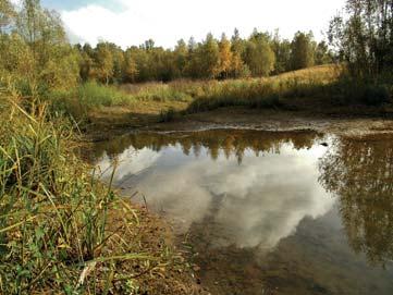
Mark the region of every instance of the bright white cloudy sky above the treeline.
<instances>
[{"instance_id":1,"label":"bright white cloudy sky above the treeline","mask_svg":"<svg viewBox=\"0 0 393 295\"><path fill-rule=\"evenodd\" d=\"M17 0L15 0L17 1ZM181 38L197 41L207 33L243 37L256 27L292 38L297 30L312 30L324 38L331 17L345 0L41 0L61 13L73 42L112 41L123 48L152 38L173 48Z\"/></svg>"}]
</instances>

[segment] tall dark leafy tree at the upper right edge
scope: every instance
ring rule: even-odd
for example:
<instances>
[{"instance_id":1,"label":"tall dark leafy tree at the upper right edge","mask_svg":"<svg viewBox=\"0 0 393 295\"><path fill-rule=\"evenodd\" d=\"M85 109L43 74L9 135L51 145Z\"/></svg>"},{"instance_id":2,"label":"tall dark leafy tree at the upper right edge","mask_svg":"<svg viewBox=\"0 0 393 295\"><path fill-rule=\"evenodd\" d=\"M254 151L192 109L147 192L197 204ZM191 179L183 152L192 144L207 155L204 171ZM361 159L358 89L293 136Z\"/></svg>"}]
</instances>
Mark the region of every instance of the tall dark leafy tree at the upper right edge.
<instances>
[{"instance_id":1,"label":"tall dark leafy tree at the upper right edge","mask_svg":"<svg viewBox=\"0 0 393 295\"><path fill-rule=\"evenodd\" d=\"M356 78L393 67L393 1L348 0L330 24L329 39Z\"/></svg>"}]
</instances>

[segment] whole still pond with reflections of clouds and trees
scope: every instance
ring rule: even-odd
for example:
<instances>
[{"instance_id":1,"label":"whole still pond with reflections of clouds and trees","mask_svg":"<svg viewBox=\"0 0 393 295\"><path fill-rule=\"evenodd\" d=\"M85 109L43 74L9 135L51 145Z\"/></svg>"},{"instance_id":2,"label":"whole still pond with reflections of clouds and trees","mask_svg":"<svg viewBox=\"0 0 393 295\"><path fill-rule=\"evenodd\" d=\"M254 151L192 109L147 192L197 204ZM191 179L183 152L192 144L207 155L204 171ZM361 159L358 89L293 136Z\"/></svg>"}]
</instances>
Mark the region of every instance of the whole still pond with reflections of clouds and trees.
<instances>
[{"instance_id":1,"label":"whole still pond with reflections of clouds and trees","mask_svg":"<svg viewBox=\"0 0 393 295\"><path fill-rule=\"evenodd\" d=\"M94 157L173 222L212 294L393 294L390 135L139 133Z\"/></svg>"}]
</instances>

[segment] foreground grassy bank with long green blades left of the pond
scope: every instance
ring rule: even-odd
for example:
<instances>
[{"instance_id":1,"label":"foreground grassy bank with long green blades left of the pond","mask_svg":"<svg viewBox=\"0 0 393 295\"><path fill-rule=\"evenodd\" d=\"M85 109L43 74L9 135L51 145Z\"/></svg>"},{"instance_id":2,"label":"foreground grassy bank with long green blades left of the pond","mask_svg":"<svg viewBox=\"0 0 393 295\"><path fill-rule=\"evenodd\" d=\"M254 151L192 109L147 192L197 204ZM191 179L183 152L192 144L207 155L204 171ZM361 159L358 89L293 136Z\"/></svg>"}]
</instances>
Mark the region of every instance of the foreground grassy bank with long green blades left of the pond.
<instances>
[{"instance_id":1,"label":"foreground grassy bank with long green blades left of the pond","mask_svg":"<svg viewBox=\"0 0 393 295\"><path fill-rule=\"evenodd\" d=\"M91 175L70 123L0 95L0 293L187 293L165 228Z\"/></svg>"}]
</instances>

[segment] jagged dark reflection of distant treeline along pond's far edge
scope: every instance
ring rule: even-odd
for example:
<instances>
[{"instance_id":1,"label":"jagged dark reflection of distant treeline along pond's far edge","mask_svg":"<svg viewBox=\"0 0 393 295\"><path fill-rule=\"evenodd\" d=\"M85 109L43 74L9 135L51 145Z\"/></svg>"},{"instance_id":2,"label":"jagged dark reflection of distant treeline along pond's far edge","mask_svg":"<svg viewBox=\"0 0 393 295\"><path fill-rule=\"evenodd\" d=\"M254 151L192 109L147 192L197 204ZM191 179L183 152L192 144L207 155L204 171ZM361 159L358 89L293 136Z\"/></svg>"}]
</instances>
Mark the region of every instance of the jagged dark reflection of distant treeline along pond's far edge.
<instances>
[{"instance_id":1,"label":"jagged dark reflection of distant treeline along pond's far edge","mask_svg":"<svg viewBox=\"0 0 393 295\"><path fill-rule=\"evenodd\" d=\"M133 133L112 138L110 142L96 143L90 160L100 159L106 152L115 158L124 150L133 147L135 150L148 148L153 151L180 145L184 155L200 156L206 148L210 158L217 160L220 152L229 159L234 156L242 163L246 150L253 150L256 156L262 152L279 153L283 144L292 144L294 149L310 149L321 134L310 131L297 132L265 132L245 130L212 130L188 133Z\"/></svg>"}]
</instances>

